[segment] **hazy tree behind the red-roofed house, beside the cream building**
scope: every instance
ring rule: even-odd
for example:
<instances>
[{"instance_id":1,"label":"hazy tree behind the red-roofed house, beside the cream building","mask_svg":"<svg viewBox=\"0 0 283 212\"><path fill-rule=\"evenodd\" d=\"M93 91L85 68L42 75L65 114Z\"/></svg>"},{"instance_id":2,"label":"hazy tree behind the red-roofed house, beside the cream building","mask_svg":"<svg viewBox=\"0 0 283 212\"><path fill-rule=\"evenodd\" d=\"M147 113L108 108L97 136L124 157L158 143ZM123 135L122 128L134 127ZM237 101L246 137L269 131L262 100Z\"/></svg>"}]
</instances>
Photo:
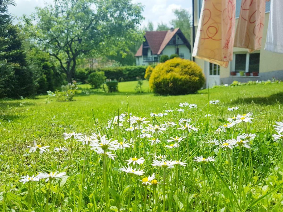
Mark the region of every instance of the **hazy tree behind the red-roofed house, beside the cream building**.
<instances>
[{"instance_id":1,"label":"hazy tree behind the red-roofed house, beside the cream building","mask_svg":"<svg viewBox=\"0 0 283 212\"><path fill-rule=\"evenodd\" d=\"M176 9L173 11L176 19L173 19L170 21L170 24L174 28L180 28L182 33L185 35L186 39L190 41L191 38L191 30L190 27L192 25L191 23L191 15L189 12L185 9Z\"/></svg>"}]
</instances>

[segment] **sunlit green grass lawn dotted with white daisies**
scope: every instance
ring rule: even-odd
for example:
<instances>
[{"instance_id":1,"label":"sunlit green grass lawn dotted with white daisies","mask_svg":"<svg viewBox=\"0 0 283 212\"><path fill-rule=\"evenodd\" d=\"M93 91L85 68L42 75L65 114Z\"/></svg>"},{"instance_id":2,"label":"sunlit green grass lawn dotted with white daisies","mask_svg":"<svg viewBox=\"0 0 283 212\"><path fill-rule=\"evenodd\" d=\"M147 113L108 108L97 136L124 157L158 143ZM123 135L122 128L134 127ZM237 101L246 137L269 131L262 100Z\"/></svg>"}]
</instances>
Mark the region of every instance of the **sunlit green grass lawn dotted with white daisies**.
<instances>
[{"instance_id":1,"label":"sunlit green grass lawn dotted with white daisies","mask_svg":"<svg viewBox=\"0 0 283 212\"><path fill-rule=\"evenodd\" d=\"M283 137L275 141L271 136L276 133L275 121L283 120L283 83L204 89L184 96L155 96L149 92L147 81L143 84L145 92L136 94L135 86L136 81L122 82L119 92L103 93L89 89L89 85L80 85L80 94L70 102L53 99L46 103L47 96L1 100L0 209L108 211L111 206L112 211L283 210ZM208 103L216 99L220 102ZM184 112L178 112L176 109L180 109L181 102L195 103L197 108L182 107ZM235 106L239 109L227 110ZM162 117L150 116L151 112L165 113L167 109L174 112ZM133 131L128 131L128 116L121 118L125 111L148 117L146 120L153 126L160 126L164 121L178 124L181 118L191 118L189 126L198 131L177 129L181 125L166 126L162 133L150 133L153 137L144 139L139 136L134 122L131 122ZM233 117L234 113L248 112L253 115L241 117L252 117L252 123L232 124L231 128L225 126L227 118ZM118 114L116 119L121 123L112 120ZM205 114L211 116L205 117ZM106 129L108 119L110 129ZM146 129L146 126L141 124L140 127ZM226 132L216 133L218 126ZM90 150L91 146L83 145L84 142L64 140L65 132L80 132L87 136L100 132L118 142L123 142L124 137L131 148L107 150L116 155L114 161L106 159L110 153L104 155L103 150L97 153ZM254 139L242 139L250 148L231 141L227 143L230 142L232 149L221 148L221 141L236 139L243 133L255 134ZM170 147L169 144L175 142L167 140L175 136L183 137L183 141L179 146ZM153 138L160 142L153 142ZM219 149L206 143L212 139L220 142ZM37 151L29 153L27 146L33 146L33 140L41 146L50 146L50 152L44 152L40 157ZM65 146L68 152L54 152L53 149L59 146ZM73 155L69 160L71 148ZM173 168L152 166L154 155L166 155L169 164L181 160L186 166L176 163ZM125 160L135 156L145 159L142 165L130 164L143 170L141 176L120 170L127 166ZM193 161L197 156L213 157L215 161L197 163ZM54 179L51 183L40 180L23 185L19 182L23 175L50 171L67 172L68 178ZM144 177L153 173L158 182L156 186L155 183L144 186L139 181L143 179L145 182Z\"/></svg>"}]
</instances>

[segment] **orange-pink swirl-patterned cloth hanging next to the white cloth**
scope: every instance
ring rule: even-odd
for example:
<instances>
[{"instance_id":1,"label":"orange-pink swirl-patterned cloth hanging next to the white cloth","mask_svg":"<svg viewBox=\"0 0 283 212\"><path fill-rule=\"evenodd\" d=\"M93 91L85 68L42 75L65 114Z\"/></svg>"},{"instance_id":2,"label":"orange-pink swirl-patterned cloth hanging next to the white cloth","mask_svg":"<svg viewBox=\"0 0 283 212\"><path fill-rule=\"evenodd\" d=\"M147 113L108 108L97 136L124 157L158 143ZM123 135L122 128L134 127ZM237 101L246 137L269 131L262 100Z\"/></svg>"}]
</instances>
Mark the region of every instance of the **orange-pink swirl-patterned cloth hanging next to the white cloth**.
<instances>
[{"instance_id":1,"label":"orange-pink swirl-patterned cloth hanging next to the white cloth","mask_svg":"<svg viewBox=\"0 0 283 212\"><path fill-rule=\"evenodd\" d=\"M234 46L248 52L261 49L264 18L265 0L242 0Z\"/></svg>"}]
</instances>

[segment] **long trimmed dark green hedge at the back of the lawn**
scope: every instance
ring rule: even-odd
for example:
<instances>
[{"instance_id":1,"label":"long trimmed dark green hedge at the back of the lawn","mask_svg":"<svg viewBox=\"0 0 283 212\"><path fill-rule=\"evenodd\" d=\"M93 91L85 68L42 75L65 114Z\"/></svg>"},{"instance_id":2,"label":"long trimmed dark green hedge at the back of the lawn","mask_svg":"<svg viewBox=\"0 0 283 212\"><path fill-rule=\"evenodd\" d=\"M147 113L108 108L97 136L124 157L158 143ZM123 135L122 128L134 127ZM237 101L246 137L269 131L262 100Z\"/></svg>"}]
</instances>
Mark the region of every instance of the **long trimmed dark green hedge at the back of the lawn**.
<instances>
[{"instance_id":1,"label":"long trimmed dark green hedge at the back of the lawn","mask_svg":"<svg viewBox=\"0 0 283 212\"><path fill-rule=\"evenodd\" d=\"M134 81L137 77L143 78L147 66L118 66L108 68L79 68L76 71L76 80L86 83L87 78L92 72L104 72L107 79L120 81Z\"/></svg>"}]
</instances>

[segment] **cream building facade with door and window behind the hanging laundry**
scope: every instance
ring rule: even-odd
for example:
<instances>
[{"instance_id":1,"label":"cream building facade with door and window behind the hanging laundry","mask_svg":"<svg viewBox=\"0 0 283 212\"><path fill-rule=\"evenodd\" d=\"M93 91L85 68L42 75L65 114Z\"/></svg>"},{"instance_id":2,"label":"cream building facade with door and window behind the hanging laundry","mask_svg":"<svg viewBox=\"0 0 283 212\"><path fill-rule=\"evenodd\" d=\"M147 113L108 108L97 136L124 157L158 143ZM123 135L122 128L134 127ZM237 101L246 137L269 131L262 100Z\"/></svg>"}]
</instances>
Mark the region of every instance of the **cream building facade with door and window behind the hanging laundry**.
<instances>
[{"instance_id":1,"label":"cream building facade with door and window behind the hanging laundry","mask_svg":"<svg viewBox=\"0 0 283 212\"><path fill-rule=\"evenodd\" d=\"M194 26L196 32L200 17L202 0L193 0L193 1L195 3ZM268 80L268 79L272 79L273 77L277 79L283 79L283 54L264 50L268 21L269 21L269 8L270 8L270 2L266 2L265 22L264 22L263 37L262 37L260 50L254 51L252 53L248 53L247 49L234 47L233 60L229 62L227 68L209 63L202 59L195 58L195 62L203 69L203 72L206 77L207 87L211 87L214 85L221 85L221 84L231 84L235 80L239 82L247 82L250 80L252 81ZM239 20L240 9L241 9L241 0L236 0L235 27L237 27L237 23ZM245 72L244 76L241 76L240 72ZM253 72L258 72L258 75L256 73L254 73L253 75ZM235 74L235 75L231 75L231 74Z\"/></svg>"}]
</instances>

